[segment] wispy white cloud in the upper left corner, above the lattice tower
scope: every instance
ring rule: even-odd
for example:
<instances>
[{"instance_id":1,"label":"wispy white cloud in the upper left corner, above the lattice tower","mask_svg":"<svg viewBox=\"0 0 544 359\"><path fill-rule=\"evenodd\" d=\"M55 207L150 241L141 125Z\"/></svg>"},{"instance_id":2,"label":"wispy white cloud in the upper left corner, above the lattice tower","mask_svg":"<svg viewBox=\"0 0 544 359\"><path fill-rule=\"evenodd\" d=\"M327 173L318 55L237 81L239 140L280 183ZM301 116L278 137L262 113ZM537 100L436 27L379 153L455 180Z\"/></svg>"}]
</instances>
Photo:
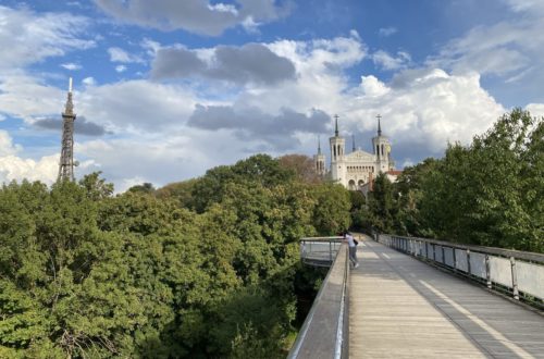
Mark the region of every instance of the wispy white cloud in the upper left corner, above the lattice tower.
<instances>
[{"instance_id":1,"label":"wispy white cloud in the upper left corner, above the lattice tower","mask_svg":"<svg viewBox=\"0 0 544 359\"><path fill-rule=\"evenodd\" d=\"M87 49L95 41L85 39L89 20L67 13L37 14L28 9L0 5L0 70L21 67L48 57L60 57L74 49Z\"/></svg>"}]
</instances>

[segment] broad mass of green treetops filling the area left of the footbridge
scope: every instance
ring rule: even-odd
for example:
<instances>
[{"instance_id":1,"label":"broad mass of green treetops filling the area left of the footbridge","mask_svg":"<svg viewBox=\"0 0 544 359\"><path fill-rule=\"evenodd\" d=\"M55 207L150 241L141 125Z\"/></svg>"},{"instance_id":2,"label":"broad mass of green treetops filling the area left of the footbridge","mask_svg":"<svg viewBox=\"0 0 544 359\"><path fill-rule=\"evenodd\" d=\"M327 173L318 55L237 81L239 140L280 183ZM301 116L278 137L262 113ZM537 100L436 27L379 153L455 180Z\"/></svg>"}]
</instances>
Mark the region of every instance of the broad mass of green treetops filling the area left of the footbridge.
<instances>
[{"instance_id":1,"label":"broad mass of green treetops filling the area left of the footbridge","mask_svg":"<svg viewBox=\"0 0 544 359\"><path fill-rule=\"evenodd\" d=\"M284 357L319 280L297 240L349 225L343 187L268 156L112 193L97 173L1 188L0 357Z\"/></svg>"}]
</instances>

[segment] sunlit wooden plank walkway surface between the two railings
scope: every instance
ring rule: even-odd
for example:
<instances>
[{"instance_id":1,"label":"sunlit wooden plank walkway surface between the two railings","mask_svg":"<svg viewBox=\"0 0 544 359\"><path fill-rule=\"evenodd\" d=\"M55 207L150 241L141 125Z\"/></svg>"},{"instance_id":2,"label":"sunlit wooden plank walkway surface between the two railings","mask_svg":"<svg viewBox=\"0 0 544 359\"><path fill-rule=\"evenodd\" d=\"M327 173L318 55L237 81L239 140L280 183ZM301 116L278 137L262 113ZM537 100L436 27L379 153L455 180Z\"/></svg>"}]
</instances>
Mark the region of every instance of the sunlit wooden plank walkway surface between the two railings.
<instances>
[{"instance_id":1,"label":"sunlit wooden plank walkway surface between the two railings","mask_svg":"<svg viewBox=\"0 0 544 359\"><path fill-rule=\"evenodd\" d=\"M544 317L366 239L351 271L351 358L544 358Z\"/></svg>"}]
</instances>

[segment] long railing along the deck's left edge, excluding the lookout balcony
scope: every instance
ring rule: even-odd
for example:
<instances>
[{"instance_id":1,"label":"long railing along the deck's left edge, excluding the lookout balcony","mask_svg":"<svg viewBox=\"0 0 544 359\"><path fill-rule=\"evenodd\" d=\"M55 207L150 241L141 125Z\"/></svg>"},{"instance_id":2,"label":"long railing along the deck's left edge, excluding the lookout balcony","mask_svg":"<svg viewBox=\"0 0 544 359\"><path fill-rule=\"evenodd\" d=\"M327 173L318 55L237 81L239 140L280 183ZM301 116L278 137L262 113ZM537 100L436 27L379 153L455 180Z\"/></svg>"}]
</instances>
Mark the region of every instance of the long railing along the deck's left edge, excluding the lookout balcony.
<instances>
[{"instance_id":1,"label":"long railing along the deck's left edge, excluding the lookout balcony","mask_svg":"<svg viewBox=\"0 0 544 359\"><path fill-rule=\"evenodd\" d=\"M343 243L287 358L348 357L348 248Z\"/></svg>"}]
</instances>

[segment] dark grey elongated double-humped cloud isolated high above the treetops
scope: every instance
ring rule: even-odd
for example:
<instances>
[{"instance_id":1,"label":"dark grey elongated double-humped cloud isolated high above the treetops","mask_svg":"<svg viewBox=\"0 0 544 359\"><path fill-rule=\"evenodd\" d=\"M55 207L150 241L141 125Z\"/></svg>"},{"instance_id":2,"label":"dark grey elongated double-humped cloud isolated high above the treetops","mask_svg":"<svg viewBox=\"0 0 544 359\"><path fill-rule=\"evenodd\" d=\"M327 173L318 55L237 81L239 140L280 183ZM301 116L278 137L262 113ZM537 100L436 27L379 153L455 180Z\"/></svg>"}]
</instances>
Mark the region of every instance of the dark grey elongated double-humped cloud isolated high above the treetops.
<instances>
[{"instance_id":1,"label":"dark grey elongated double-humped cloud isolated high above the treetops","mask_svg":"<svg viewBox=\"0 0 544 359\"><path fill-rule=\"evenodd\" d=\"M163 48L151 65L153 78L202 76L235 84L275 84L295 77L295 66L286 58L261 44L242 47L218 46L209 59L185 48Z\"/></svg>"}]
</instances>

